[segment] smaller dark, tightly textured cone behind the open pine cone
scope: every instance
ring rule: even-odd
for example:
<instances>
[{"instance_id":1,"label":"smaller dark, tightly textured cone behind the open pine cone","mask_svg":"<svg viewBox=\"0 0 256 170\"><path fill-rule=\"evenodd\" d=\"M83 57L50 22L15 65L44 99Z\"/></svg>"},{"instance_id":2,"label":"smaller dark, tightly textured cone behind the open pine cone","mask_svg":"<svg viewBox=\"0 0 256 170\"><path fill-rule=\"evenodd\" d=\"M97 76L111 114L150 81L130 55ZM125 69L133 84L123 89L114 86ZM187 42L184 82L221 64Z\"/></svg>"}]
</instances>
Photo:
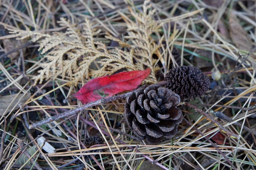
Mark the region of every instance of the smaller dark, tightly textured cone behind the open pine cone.
<instances>
[{"instance_id":1,"label":"smaller dark, tightly textured cone behind the open pine cone","mask_svg":"<svg viewBox=\"0 0 256 170\"><path fill-rule=\"evenodd\" d=\"M173 68L164 80L167 81L167 88L177 93L181 99L204 95L210 85L208 76L195 66Z\"/></svg>"}]
</instances>

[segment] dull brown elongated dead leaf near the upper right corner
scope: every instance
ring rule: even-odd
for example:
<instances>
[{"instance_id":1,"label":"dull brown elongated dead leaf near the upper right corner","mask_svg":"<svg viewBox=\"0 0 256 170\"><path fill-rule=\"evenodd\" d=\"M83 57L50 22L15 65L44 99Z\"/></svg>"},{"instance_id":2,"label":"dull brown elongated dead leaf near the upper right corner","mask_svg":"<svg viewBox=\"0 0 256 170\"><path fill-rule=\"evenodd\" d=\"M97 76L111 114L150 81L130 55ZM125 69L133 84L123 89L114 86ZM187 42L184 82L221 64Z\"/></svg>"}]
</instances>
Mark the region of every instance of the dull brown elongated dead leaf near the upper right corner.
<instances>
[{"instance_id":1,"label":"dull brown elongated dead leaf near the upper right corner","mask_svg":"<svg viewBox=\"0 0 256 170\"><path fill-rule=\"evenodd\" d=\"M252 46L252 41L248 37L248 34L240 25L239 20L236 18L235 14L230 13L229 15L229 29L230 37L236 47L241 50L250 51Z\"/></svg>"}]
</instances>

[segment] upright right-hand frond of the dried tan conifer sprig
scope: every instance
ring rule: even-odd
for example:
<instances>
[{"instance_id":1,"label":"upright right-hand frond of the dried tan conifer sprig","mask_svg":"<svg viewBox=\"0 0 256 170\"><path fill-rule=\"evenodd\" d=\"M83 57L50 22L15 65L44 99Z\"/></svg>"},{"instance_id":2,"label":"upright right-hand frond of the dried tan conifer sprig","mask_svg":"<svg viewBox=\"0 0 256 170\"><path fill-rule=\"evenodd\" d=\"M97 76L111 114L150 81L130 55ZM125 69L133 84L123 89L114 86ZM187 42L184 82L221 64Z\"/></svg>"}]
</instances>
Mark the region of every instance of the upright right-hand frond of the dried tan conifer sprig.
<instances>
[{"instance_id":1,"label":"upright right-hand frond of the dried tan conifer sprig","mask_svg":"<svg viewBox=\"0 0 256 170\"><path fill-rule=\"evenodd\" d=\"M158 43L151 37L151 35L158 32L158 29L162 26L162 24L157 24L153 19L156 10L150 10L151 7L150 0L146 0L143 5L142 13L135 13L130 9L131 14L136 21L132 21L126 16L122 16L127 23L128 31L128 35L124 36L124 38L131 43L128 44L111 35L107 35L106 38L117 41L122 47L132 49L134 51L134 59L136 61L142 61L135 63L136 68L139 70L144 70L145 67L151 68L152 72L149 77L151 82L155 83L156 76L154 70L156 70L156 68L153 66L156 63L156 60L154 60L152 56L161 46L164 36L161 37Z\"/></svg>"}]
</instances>

